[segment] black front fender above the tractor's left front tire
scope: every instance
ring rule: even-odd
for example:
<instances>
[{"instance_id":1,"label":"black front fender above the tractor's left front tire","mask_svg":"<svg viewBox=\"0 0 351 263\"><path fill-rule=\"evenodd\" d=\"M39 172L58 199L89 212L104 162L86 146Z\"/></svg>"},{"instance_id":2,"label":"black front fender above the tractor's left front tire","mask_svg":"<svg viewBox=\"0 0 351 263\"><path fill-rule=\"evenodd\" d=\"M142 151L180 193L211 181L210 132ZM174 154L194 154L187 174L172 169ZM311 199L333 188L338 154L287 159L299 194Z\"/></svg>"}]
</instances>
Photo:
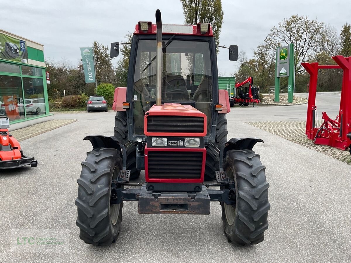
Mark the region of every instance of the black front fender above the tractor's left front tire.
<instances>
[{"instance_id":1,"label":"black front fender above the tractor's left front tire","mask_svg":"<svg viewBox=\"0 0 351 263\"><path fill-rule=\"evenodd\" d=\"M98 148L113 148L120 150L123 160L123 170L127 167L127 151L126 147L121 144L114 136L104 136L104 135L89 135L85 136L84 140L89 140L93 146L93 149Z\"/></svg>"}]
</instances>

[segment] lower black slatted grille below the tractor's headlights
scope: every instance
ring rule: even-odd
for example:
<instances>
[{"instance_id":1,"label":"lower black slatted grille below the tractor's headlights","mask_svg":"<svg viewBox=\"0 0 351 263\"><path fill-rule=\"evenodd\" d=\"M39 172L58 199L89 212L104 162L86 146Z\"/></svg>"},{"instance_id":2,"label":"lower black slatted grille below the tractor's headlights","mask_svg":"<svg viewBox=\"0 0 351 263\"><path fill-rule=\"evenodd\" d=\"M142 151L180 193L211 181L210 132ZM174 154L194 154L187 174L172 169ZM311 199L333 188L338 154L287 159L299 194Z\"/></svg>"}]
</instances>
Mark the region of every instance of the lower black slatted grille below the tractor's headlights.
<instances>
[{"instance_id":1,"label":"lower black slatted grille below the tractor's headlights","mask_svg":"<svg viewBox=\"0 0 351 263\"><path fill-rule=\"evenodd\" d=\"M149 151L148 177L199 179L202 162L199 151Z\"/></svg>"}]
</instances>

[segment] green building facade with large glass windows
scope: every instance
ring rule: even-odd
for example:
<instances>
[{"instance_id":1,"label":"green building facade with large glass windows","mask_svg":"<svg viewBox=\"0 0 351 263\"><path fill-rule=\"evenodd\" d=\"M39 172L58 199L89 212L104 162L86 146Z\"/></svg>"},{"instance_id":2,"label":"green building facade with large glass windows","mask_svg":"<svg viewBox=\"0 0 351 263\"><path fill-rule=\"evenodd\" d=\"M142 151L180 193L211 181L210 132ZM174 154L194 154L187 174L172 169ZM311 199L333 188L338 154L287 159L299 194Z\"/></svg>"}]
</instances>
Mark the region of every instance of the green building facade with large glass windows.
<instances>
[{"instance_id":1,"label":"green building facade with large glass windows","mask_svg":"<svg viewBox=\"0 0 351 263\"><path fill-rule=\"evenodd\" d=\"M0 116L10 124L49 114L44 46L0 29Z\"/></svg>"}]
</instances>

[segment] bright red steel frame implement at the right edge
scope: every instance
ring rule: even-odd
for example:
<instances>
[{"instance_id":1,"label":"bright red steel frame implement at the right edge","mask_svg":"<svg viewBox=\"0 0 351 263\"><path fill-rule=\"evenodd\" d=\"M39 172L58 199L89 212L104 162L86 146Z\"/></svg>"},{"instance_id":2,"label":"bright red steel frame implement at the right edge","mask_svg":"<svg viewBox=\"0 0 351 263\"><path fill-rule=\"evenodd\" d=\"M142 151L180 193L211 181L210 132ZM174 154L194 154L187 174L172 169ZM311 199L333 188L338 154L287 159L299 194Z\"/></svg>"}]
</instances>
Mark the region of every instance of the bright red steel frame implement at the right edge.
<instances>
[{"instance_id":1,"label":"bright red steel frame implement at the right edge","mask_svg":"<svg viewBox=\"0 0 351 263\"><path fill-rule=\"evenodd\" d=\"M329 145L338 149L346 150L351 144L347 133L351 133L351 57L333 56L338 65L318 65L316 63L302 63L302 66L310 74L310 90L307 106L306 135L316 144ZM344 71L341 89L339 115L335 120L323 112L322 126L314 127L314 114L317 109L316 92L318 69L342 69ZM318 136L317 136L318 135Z\"/></svg>"}]
</instances>

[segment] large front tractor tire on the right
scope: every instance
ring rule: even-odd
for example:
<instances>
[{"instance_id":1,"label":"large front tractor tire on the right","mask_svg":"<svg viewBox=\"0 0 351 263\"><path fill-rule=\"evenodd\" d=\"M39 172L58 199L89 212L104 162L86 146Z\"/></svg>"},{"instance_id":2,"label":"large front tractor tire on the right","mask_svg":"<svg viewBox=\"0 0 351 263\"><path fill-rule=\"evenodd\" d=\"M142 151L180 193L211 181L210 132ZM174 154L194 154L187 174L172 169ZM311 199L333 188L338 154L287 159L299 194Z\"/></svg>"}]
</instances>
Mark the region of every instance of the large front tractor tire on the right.
<instances>
[{"instance_id":1,"label":"large front tractor tire on the right","mask_svg":"<svg viewBox=\"0 0 351 263\"><path fill-rule=\"evenodd\" d=\"M264 240L268 228L269 183L260 156L252 150L227 151L224 170L234 180L235 189L229 195L234 205L221 202L225 235L236 245L253 245Z\"/></svg>"}]
</instances>

